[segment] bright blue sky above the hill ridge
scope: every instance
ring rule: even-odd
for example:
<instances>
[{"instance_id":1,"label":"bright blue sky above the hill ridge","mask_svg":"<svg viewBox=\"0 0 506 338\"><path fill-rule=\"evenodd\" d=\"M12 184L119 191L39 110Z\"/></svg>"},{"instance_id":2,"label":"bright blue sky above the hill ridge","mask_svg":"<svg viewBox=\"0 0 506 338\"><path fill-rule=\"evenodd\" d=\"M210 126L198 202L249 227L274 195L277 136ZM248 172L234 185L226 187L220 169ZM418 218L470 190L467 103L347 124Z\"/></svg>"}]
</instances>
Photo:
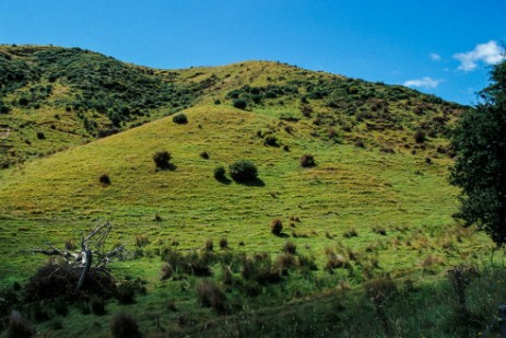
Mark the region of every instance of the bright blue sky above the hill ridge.
<instances>
[{"instance_id":1,"label":"bright blue sky above the hill ridge","mask_svg":"<svg viewBox=\"0 0 506 338\"><path fill-rule=\"evenodd\" d=\"M505 0L1 0L0 43L165 69L274 60L470 104L505 19Z\"/></svg>"}]
</instances>

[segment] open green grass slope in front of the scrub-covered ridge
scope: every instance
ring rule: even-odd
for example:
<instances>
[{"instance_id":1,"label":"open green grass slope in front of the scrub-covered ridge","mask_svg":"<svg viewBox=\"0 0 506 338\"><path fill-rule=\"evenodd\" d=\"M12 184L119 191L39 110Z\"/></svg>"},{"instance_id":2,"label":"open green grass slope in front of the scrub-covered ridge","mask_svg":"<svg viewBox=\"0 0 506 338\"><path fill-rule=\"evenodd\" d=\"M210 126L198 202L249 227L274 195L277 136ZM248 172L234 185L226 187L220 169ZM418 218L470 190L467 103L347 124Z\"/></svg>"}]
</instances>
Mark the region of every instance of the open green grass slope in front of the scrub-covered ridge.
<instances>
[{"instance_id":1,"label":"open green grass slope in front of the scrub-covered ridge","mask_svg":"<svg viewBox=\"0 0 506 338\"><path fill-rule=\"evenodd\" d=\"M445 271L462 261L483 266L491 242L451 219L457 190L446 180L448 159L427 162L424 155L336 144L311 137L311 121L304 119L286 132L287 123L280 125L272 112L197 107L185 114L187 125L162 119L0 172L4 288L23 283L45 264L44 257L21 249L45 241L79 242L102 220L116 225L110 245L127 244L132 253L114 266L114 275L148 281L148 294L133 305L110 302L104 316L83 316L71 307L67 317L39 320L37 329L64 337L87 335L93 327L104 336L111 316L127 311L141 331L162 336L285 336L290 330L381 336L387 335L385 320L363 287L378 279L391 279L398 289L385 304L388 335L472 336L492 320L504 295L486 291L492 287L486 283L503 277L486 270L468 290L475 292L469 311L479 308L472 317L479 325L462 330L455 325L459 318ZM275 135L289 151L264 145L259 131ZM172 153L174 171L155 170L152 155L160 150ZM317 166L301 167L305 153L315 155ZM243 159L257 164L258 182L213 178L215 166ZM99 183L103 174L110 177L109 186ZM270 230L274 219L284 225L280 236ZM228 250L219 249L221 238ZM227 263L238 280L231 287L223 285L224 258L211 264L209 278L226 291L225 315L200 306L196 289L202 278L176 273L160 280L166 249L203 255L204 243L212 241L220 255L264 253L279 261L287 240L296 257L315 258L316 270L297 266L280 282L258 288L244 280L240 265ZM483 304L482 292L490 295ZM413 312L412 304L419 310Z\"/></svg>"}]
</instances>

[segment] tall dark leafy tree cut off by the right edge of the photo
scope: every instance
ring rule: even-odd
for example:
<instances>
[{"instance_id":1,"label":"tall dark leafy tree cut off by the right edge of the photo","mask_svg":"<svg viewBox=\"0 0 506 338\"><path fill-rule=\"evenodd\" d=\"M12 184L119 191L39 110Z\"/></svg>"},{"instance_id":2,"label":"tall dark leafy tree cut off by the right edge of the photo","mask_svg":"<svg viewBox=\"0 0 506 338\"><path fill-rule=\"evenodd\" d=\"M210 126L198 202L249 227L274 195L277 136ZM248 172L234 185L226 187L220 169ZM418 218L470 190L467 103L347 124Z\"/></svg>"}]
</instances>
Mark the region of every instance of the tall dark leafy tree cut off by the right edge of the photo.
<instances>
[{"instance_id":1,"label":"tall dark leafy tree cut off by the right edge of the photo","mask_svg":"<svg viewBox=\"0 0 506 338\"><path fill-rule=\"evenodd\" d=\"M491 81L456 125L450 182L462 188L456 217L499 246L506 243L506 60L493 67Z\"/></svg>"}]
</instances>

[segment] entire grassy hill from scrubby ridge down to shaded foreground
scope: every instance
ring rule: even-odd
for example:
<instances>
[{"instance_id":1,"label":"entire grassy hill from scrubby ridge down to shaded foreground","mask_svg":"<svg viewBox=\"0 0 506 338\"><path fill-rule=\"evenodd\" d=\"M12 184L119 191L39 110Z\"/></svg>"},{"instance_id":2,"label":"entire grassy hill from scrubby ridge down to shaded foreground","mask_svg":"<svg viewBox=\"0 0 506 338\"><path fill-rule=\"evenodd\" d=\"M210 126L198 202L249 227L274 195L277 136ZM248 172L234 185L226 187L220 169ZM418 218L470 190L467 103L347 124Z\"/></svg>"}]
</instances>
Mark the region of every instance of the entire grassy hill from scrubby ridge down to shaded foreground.
<instances>
[{"instance_id":1,"label":"entire grassy hill from scrubby ridge down to shaded foreground","mask_svg":"<svg viewBox=\"0 0 506 338\"><path fill-rule=\"evenodd\" d=\"M148 283L136 304L108 302L105 316L81 305L58 315L50 303L54 319L40 319L28 304L37 329L82 336L93 323L104 336L121 310L162 336L391 336L388 323L398 336L458 336L492 318L490 295L501 292L486 288L471 288L490 298L470 302L472 329L431 315L454 315L445 271L481 265L491 247L451 218L447 137L464 107L268 61L156 70L75 48L1 46L0 62L0 125L11 129L0 170L4 290L45 261L20 249L79 242L104 220L117 229L110 245L131 252L113 273ZM169 170L156 168L158 151L172 154ZM316 166L301 165L305 154ZM215 179L239 160L256 164L257 180ZM167 263L174 271L161 280ZM204 277L188 270L199 265ZM481 278L504 280L494 273ZM226 310L201 306L208 282L225 291ZM385 292L384 305L372 301ZM409 302L425 307L408 318Z\"/></svg>"}]
</instances>

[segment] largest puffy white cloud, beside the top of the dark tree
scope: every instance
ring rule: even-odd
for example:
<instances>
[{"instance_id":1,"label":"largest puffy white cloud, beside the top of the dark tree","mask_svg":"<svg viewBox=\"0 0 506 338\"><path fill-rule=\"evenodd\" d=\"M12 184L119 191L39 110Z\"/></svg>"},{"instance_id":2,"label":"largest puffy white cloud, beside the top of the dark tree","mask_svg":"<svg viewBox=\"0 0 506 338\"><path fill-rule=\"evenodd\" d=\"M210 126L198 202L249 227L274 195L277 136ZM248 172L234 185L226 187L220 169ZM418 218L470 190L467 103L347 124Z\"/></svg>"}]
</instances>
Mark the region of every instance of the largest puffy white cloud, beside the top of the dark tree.
<instances>
[{"instance_id":1,"label":"largest puffy white cloud, beside the top of the dark tree","mask_svg":"<svg viewBox=\"0 0 506 338\"><path fill-rule=\"evenodd\" d=\"M486 44L476 45L473 50L467 53L458 53L454 58L460 61L459 70L471 71L478 67L478 62L482 61L486 65L495 65L503 58L504 50L496 42L491 40Z\"/></svg>"}]
</instances>

